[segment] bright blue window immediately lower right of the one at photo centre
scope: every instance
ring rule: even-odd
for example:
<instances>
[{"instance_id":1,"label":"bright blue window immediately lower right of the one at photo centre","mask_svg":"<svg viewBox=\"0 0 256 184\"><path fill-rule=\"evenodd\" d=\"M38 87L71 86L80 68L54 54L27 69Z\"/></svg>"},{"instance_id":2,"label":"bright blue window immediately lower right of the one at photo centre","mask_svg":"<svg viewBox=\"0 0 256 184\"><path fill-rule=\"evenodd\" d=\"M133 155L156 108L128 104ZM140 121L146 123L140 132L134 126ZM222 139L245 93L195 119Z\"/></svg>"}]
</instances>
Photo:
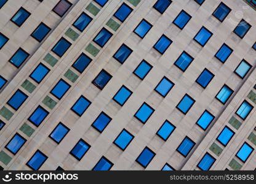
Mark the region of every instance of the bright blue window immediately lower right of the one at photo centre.
<instances>
[{"instance_id":1,"label":"bright blue window immediately lower right of the one at photo centre","mask_svg":"<svg viewBox=\"0 0 256 184\"><path fill-rule=\"evenodd\" d=\"M144 124L148 121L153 112L154 109L144 102L142 106L140 106L140 109L135 113L134 117Z\"/></svg>"}]
</instances>

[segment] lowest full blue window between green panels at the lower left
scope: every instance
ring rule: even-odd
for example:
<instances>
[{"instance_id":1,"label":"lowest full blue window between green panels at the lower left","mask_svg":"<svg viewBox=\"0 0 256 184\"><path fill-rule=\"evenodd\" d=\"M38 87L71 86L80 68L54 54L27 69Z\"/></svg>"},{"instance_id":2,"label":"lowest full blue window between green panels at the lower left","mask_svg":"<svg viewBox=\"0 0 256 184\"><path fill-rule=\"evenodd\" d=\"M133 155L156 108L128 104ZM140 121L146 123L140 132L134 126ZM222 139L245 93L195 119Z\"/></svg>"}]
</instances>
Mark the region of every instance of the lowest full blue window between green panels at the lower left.
<instances>
[{"instance_id":1,"label":"lowest full blue window between green panels at the lower left","mask_svg":"<svg viewBox=\"0 0 256 184\"><path fill-rule=\"evenodd\" d=\"M25 144L26 139L24 139L20 134L16 133L12 139L6 145L7 150L9 150L12 154L16 154L20 148Z\"/></svg>"}]
</instances>

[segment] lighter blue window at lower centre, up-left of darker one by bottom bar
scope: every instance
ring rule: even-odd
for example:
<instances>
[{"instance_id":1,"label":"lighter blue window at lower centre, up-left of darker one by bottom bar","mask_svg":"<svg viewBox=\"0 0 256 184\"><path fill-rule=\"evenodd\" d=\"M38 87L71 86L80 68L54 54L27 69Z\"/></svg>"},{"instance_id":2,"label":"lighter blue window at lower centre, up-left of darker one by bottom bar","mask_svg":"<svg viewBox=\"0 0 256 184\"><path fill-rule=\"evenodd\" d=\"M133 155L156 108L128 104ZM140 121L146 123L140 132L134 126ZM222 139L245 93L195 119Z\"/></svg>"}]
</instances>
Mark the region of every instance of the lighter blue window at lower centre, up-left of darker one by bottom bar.
<instances>
[{"instance_id":1,"label":"lighter blue window at lower centre, up-left of darker one by bottom bar","mask_svg":"<svg viewBox=\"0 0 256 184\"><path fill-rule=\"evenodd\" d=\"M126 129L123 129L118 137L116 137L116 140L114 140L114 144L121 148L121 150L125 150L130 142L132 142L132 139L134 139L134 136Z\"/></svg>"}]
</instances>

